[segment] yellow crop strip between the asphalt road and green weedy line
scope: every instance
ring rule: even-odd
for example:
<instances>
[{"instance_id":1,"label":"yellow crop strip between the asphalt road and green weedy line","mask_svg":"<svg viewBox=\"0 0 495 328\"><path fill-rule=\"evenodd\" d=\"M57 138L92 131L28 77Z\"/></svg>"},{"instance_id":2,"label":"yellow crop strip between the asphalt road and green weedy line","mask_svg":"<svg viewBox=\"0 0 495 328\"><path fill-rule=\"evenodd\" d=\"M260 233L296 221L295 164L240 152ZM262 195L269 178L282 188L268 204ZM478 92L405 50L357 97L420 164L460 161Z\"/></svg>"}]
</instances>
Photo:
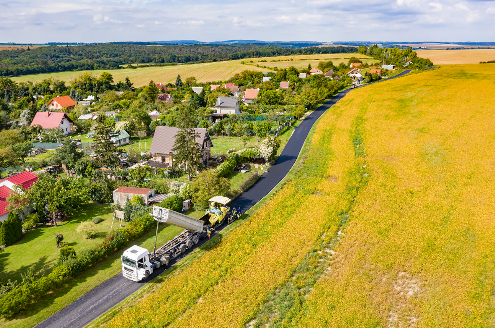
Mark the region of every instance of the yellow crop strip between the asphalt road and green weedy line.
<instances>
[{"instance_id":1,"label":"yellow crop strip between the asphalt road and green weedy line","mask_svg":"<svg viewBox=\"0 0 495 328\"><path fill-rule=\"evenodd\" d=\"M345 172L354 159L349 131L356 113L329 110L292 181L228 238L109 326L244 326L267 291L286 281L321 234L339 224Z\"/></svg>"}]
</instances>

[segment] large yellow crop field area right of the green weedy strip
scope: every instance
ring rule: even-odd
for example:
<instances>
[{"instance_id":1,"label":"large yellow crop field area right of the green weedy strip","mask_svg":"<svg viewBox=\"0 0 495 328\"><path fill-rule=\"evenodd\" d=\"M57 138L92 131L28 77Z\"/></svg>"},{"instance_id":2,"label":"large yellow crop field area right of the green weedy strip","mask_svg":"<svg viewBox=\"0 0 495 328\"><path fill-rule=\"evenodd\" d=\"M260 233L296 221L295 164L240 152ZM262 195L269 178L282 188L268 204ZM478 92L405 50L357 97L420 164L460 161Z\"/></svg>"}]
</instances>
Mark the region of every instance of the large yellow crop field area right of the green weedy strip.
<instances>
[{"instance_id":1,"label":"large yellow crop field area right of the green weedy strip","mask_svg":"<svg viewBox=\"0 0 495 328\"><path fill-rule=\"evenodd\" d=\"M442 67L338 104L367 108L372 178L288 327L493 326L493 73Z\"/></svg>"}]
</instances>

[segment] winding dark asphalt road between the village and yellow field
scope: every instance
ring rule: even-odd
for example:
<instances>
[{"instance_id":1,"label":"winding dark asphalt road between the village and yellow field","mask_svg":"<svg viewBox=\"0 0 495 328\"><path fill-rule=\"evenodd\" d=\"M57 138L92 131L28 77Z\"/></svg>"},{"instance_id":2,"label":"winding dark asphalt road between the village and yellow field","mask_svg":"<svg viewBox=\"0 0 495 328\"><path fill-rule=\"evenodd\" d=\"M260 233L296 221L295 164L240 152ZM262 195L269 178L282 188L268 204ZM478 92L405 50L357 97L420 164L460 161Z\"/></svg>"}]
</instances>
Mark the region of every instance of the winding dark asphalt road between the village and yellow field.
<instances>
[{"instance_id":1,"label":"winding dark asphalt road between the village and yellow field","mask_svg":"<svg viewBox=\"0 0 495 328\"><path fill-rule=\"evenodd\" d=\"M398 78L410 71L404 71L398 75L388 78L387 80ZM386 81L386 80L384 80ZM364 85L366 86L366 85ZM360 86L360 87L364 87ZM339 92L334 98L316 108L310 113L304 121L302 121L297 127L294 128L294 132L290 137L287 145L283 149L282 153L278 157L275 164L268 169L268 172L263 173L261 178L258 179L248 190L246 190L239 197L234 199L230 204L232 207L240 207L242 212L245 212L263 197L265 197L275 186L287 175L292 166L294 165L299 153L304 145L309 130L313 126L314 122L323 114L328 108L332 107L339 100L350 92L351 89L346 89ZM226 225L220 226L212 236L222 231ZM180 257L172 259L169 266L174 265L178 260L187 256L195 248L201 246L207 241L207 239L200 240L196 247L186 251ZM103 282L101 285L92 289L88 293L76 299L74 302L67 305L57 313L48 317L46 320L38 324L37 328L76 328L84 327L101 314L105 313L113 306L120 303L126 297L130 296L133 292L141 288L147 281L155 278L158 274L162 273L164 267L160 267L150 275L148 280L144 282L134 282L124 278L121 274L110 278Z\"/></svg>"}]
</instances>

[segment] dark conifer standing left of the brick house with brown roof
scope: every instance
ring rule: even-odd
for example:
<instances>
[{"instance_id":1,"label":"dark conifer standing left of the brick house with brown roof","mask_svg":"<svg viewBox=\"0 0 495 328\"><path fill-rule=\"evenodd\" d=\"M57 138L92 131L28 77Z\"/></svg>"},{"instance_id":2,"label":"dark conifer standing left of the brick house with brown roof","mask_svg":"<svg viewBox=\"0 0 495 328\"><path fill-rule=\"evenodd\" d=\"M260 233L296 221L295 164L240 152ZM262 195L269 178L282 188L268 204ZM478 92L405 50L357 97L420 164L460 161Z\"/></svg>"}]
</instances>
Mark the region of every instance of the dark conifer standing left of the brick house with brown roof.
<instances>
[{"instance_id":1,"label":"dark conifer standing left of the brick house with brown roof","mask_svg":"<svg viewBox=\"0 0 495 328\"><path fill-rule=\"evenodd\" d=\"M104 115L96 119L95 136L93 137L93 149L97 156L97 161L101 166L115 167L120 163L119 158L113 153L118 152L112 138L117 137L120 133L112 131L105 125Z\"/></svg>"}]
</instances>

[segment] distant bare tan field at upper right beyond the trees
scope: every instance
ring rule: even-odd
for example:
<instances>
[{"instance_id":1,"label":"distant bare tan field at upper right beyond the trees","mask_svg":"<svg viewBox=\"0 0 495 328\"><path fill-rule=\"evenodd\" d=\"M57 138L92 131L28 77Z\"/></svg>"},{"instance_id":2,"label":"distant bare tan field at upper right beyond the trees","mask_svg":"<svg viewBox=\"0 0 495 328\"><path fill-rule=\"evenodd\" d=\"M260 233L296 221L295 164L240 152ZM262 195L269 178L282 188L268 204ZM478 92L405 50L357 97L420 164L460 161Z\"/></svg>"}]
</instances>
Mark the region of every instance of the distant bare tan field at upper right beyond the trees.
<instances>
[{"instance_id":1,"label":"distant bare tan field at upper right beyond the trees","mask_svg":"<svg viewBox=\"0 0 495 328\"><path fill-rule=\"evenodd\" d=\"M435 65L478 64L495 60L495 49L420 50L417 54L429 58Z\"/></svg>"}]
</instances>

